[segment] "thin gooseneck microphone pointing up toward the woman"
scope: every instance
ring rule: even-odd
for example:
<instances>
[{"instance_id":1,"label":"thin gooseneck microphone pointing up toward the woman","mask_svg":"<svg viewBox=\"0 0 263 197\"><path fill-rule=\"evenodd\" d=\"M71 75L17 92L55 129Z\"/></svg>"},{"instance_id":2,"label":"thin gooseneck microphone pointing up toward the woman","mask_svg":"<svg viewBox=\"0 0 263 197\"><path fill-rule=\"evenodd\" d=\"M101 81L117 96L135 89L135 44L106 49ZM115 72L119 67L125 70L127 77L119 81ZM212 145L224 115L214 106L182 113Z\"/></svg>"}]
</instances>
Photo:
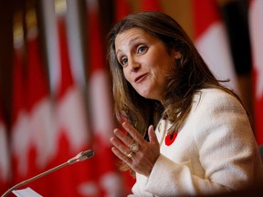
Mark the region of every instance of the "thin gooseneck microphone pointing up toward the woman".
<instances>
[{"instance_id":1,"label":"thin gooseneck microphone pointing up toward the woman","mask_svg":"<svg viewBox=\"0 0 263 197\"><path fill-rule=\"evenodd\" d=\"M30 179L27 179L26 181L22 181L22 182L19 182L18 184L16 184L15 186L13 186L12 188L10 188L9 190L7 190L1 197L5 197L7 196L10 192L12 192L13 190L16 190L17 188L23 186L23 185L26 185L27 183L31 182L31 181L35 181L37 180L38 178L42 177L42 176L45 176L47 175L48 173L50 172L53 172L53 171L57 171L58 169L62 168L62 167L65 167L67 165L71 165L71 164L74 164L78 161L85 161L91 157L94 156L94 151L93 150L85 150L85 151L81 151L79 152L79 154L77 154L75 157L71 158L70 160L50 169L50 170L47 170L47 171L44 171L40 174L37 174L37 176L34 176Z\"/></svg>"}]
</instances>

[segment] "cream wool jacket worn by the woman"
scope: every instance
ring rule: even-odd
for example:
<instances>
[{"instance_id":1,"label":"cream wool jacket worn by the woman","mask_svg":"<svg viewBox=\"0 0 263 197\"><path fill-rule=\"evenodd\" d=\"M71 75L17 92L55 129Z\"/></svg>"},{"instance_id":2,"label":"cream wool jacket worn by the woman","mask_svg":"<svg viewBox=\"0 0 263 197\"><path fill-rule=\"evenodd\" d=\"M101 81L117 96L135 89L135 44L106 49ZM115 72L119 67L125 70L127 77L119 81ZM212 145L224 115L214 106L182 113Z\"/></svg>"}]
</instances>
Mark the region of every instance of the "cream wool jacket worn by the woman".
<instances>
[{"instance_id":1,"label":"cream wool jacket worn by the woman","mask_svg":"<svg viewBox=\"0 0 263 197\"><path fill-rule=\"evenodd\" d=\"M165 144L165 121L160 124L155 132L161 155L149 178L136 173L130 197L209 195L262 182L262 161L246 111L226 92L210 88L196 94L171 145Z\"/></svg>"}]
</instances>

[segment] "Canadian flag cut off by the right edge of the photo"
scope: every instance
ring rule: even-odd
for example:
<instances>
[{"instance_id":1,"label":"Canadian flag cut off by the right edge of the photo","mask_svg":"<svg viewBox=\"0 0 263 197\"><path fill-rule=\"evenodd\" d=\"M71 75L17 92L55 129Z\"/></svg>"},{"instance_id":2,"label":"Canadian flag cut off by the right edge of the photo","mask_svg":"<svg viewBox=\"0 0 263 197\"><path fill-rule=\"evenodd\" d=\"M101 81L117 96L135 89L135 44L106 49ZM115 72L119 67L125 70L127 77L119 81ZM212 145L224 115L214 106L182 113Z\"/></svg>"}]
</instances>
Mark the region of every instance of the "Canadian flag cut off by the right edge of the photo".
<instances>
[{"instance_id":1,"label":"Canadian flag cut off by the right edge of the photo","mask_svg":"<svg viewBox=\"0 0 263 197\"><path fill-rule=\"evenodd\" d=\"M263 1L252 0L249 5L249 32L253 62L255 135L263 144Z\"/></svg>"}]
</instances>

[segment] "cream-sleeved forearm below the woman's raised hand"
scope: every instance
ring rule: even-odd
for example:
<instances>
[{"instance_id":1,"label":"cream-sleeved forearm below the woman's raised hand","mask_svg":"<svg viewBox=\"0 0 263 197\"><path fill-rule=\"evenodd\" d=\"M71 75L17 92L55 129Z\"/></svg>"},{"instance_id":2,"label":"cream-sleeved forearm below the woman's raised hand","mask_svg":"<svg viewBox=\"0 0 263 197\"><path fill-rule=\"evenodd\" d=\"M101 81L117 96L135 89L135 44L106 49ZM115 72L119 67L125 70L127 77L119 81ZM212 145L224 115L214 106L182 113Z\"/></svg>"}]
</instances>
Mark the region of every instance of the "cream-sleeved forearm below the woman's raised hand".
<instances>
[{"instance_id":1,"label":"cream-sleeved forearm below the woman's raised hand","mask_svg":"<svg viewBox=\"0 0 263 197\"><path fill-rule=\"evenodd\" d=\"M191 161L175 163L161 155L147 181L146 191L157 196L209 195L231 190L193 173Z\"/></svg>"}]
</instances>

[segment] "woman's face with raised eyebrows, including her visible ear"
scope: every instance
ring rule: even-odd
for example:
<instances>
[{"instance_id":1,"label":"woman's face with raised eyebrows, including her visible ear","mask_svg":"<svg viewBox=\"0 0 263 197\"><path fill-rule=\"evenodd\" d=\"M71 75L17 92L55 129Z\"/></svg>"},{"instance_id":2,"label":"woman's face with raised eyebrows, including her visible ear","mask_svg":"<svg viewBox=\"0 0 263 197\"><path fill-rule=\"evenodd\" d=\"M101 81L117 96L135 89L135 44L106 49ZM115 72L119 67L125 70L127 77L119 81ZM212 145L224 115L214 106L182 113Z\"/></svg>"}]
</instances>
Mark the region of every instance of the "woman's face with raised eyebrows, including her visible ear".
<instances>
[{"instance_id":1,"label":"woman's face with raised eyebrows, including her visible ear","mask_svg":"<svg viewBox=\"0 0 263 197\"><path fill-rule=\"evenodd\" d=\"M163 42L140 28L125 30L116 36L116 56L125 78L144 98L162 102L165 80L171 73L175 58L181 54L173 50L171 54Z\"/></svg>"}]
</instances>

